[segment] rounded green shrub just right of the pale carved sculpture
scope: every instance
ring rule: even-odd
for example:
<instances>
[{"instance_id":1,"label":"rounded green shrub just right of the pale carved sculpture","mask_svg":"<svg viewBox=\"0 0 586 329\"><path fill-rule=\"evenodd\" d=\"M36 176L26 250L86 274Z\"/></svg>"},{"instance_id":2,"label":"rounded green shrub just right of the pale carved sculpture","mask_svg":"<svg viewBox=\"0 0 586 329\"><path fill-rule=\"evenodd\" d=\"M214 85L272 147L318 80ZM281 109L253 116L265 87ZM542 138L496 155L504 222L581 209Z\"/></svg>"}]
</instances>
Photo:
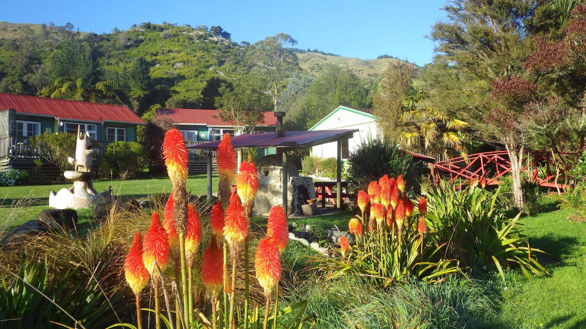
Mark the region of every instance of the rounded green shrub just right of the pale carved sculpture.
<instances>
[{"instance_id":1,"label":"rounded green shrub just right of the pale carved sculpture","mask_svg":"<svg viewBox=\"0 0 586 329\"><path fill-rule=\"evenodd\" d=\"M147 165L147 151L137 142L113 142L106 146L100 175L122 179L137 177Z\"/></svg>"}]
</instances>

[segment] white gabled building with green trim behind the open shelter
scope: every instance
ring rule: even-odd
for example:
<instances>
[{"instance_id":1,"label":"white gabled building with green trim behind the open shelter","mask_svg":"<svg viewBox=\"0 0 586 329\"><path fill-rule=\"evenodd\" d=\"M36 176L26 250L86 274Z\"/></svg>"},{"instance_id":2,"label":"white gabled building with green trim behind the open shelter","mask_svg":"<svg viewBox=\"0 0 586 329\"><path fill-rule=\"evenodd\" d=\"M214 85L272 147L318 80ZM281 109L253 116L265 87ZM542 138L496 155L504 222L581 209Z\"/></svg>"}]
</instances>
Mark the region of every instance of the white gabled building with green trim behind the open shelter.
<instances>
[{"instance_id":1,"label":"white gabled building with green trim behind the open shelter","mask_svg":"<svg viewBox=\"0 0 586 329\"><path fill-rule=\"evenodd\" d=\"M340 105L317 124L309 128L314 130L359 129L352 138L342 140L342 159L347 159L361 140L381 138L380 129L376 125L376 117L369 108L352 108ZM337 142L316 145L312 155L319 157L336 157Z\"/></svg>"}]
</instances>

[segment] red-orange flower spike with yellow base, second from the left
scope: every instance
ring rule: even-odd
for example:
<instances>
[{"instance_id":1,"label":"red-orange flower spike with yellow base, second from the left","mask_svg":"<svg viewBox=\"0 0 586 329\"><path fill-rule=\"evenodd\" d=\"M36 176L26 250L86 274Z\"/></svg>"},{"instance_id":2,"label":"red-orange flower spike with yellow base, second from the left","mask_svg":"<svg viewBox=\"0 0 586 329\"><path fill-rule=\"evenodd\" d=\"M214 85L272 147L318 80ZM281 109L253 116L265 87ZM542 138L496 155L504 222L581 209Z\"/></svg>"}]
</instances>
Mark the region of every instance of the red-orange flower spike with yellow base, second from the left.
<instances>
[{"instance_id":1,"label":"red-orange flower spike with yellow base, second from the left","mask_svg":"<svg viewBox=\"0 0 586 329\"><path fill-rule=\"evenodd\" d=\"M142 261L149 273L158 276L158 271L154 267L155 263L161 268L161 272L165 272L169 263L169 240L165 228L161 225L159 213L151 215L151 227L145 233L142 248Z\"/></svg>"}]
</instances>

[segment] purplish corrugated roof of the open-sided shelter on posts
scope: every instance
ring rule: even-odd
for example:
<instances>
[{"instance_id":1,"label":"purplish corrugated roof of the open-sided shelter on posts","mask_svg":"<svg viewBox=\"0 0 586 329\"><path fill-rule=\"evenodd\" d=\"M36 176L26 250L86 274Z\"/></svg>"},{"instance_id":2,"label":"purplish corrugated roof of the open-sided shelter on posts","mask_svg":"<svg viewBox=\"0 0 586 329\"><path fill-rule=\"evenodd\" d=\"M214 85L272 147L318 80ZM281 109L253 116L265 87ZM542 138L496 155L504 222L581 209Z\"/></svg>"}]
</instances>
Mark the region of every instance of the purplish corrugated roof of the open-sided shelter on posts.
<instances>
[{"instance_id":1,"label":"purplish corrugated roof of the open-sided shelter on posts","mask_svg":"<svg viewBox=\"0 0 586 329\"><path fill-rule=\"evenodd\" d=\"M288 131L284 136L277 136L274 132L246 133L232 138L234 148L285 148L309 147L333 142L338 138L352 137L358 129L318 130L318 131ZM191 149L215 150L220 140L191 146Z\"/></svg>"}]
</instances>

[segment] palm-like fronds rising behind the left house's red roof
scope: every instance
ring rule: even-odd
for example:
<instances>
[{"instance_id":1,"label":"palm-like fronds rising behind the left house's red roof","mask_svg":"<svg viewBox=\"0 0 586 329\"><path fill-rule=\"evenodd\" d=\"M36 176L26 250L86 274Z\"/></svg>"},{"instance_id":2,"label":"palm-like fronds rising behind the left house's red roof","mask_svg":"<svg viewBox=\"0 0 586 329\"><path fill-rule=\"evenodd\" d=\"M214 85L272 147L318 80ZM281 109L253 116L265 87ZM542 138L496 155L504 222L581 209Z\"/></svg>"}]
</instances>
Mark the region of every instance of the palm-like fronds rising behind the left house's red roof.
<instances>
[{"instance_id":1,"label":"palm-like fronds rising behind the left house's red roof","mask_svg":"<svg viewBox=\"0 0 586 329\"><path fill-rule=\"evenodd\" d=\"M131 105L127 95L116 81L100 81L91 84L85 78L73 80L60 77L54 83L46 85L39 95L86 102L114 101L122 105Z\"/></svg>"}]
</instances>

